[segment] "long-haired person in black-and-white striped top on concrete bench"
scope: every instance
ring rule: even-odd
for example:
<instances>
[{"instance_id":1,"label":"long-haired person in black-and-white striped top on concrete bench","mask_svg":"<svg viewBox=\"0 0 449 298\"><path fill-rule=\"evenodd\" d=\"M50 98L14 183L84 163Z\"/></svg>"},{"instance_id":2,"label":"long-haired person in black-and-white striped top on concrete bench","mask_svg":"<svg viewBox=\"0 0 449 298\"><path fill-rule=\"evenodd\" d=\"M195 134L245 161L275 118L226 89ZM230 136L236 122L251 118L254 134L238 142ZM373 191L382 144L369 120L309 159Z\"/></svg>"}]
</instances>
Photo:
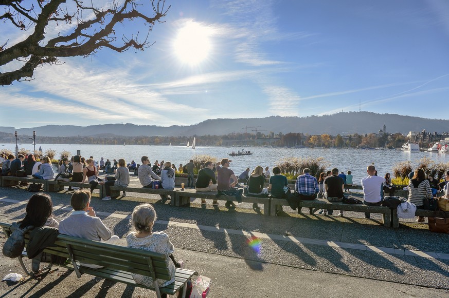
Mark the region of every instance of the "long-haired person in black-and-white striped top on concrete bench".
<instances>
[{"instance_id":1,"label":"long-haired person in black-and-white striped top on concrete bench","mask_svg":"<svg viewBox=\"0 0 449 298\"><path fill-rule=\"evenodd\" d=\"M416 169L415 174L408 183L408 202L416 205L416 208L424 208L424 199L432 197L429 181L422 169ZM423 216L418 216L418 223L424 221Z\"/></svg>"}]
</instances>

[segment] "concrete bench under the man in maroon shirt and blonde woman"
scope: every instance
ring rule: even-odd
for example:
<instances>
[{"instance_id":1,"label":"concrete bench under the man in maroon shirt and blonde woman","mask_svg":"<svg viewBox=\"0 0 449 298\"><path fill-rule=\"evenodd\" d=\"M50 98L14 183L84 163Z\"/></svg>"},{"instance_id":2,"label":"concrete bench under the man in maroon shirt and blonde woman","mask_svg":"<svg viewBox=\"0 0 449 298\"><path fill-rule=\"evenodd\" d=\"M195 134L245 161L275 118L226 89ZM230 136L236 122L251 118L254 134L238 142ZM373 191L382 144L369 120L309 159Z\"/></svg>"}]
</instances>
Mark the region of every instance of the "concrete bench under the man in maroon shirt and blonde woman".
<instances>
[{"instance_id":1,"label":"concrete bench under the man in maroon shirt and blonde woman","mask_svg":"<svg viewBox=\"0 0 449 298\"><path fill-rule=\"evenodd\" d=\"M184 190L177 189L175 194L176 194L175 202L171 202L172 205L174 206L190 206L191 197L201 198L203 200L208 199L217 201L234 201L234 202L237 201L235 196L220 195L217 197L217 191L197 192L194 189L185 188ZM255 197L255 196L242 195L242 202L263 204L263 214L270 215L270 198L268 197Z\"/></svg>"}]
</instances>

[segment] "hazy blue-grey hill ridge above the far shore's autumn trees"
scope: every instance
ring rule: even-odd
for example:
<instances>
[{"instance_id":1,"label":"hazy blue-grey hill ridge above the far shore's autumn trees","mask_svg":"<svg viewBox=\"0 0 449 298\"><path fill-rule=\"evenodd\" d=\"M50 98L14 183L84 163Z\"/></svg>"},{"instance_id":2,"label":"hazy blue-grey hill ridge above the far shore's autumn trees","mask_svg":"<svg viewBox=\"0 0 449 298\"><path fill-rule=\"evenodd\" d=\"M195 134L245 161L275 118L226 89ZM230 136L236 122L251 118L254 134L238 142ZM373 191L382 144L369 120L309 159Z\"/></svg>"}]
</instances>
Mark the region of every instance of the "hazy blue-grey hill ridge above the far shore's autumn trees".
<instances>
[{"instance_id":1,"label":"hazy blue-grey hill ridge above the far shore's autumn trees","mask_svg":"<svg viewBox=\"0 0 449 298\"><path fill-rule=\"evenodd\" d=\"M46 125L17 129L21 135L32 135L36 130L41 136L182 136L182 135L224 135L232 132L264 134L302 132L309 134L328 133L331 135L378 132L386 125L389 133L408 131L428 132L449 131L449 120L427 119L397 114L376 114L371 112L342 112L333 115L308 117L281 117L214 119L189 126L154 126L134 124L105 124L91 126ZM243 128L243 129L242 129ZM0 127L0 132L14 133L14 127Z\"/></svg>"}]
</instances>

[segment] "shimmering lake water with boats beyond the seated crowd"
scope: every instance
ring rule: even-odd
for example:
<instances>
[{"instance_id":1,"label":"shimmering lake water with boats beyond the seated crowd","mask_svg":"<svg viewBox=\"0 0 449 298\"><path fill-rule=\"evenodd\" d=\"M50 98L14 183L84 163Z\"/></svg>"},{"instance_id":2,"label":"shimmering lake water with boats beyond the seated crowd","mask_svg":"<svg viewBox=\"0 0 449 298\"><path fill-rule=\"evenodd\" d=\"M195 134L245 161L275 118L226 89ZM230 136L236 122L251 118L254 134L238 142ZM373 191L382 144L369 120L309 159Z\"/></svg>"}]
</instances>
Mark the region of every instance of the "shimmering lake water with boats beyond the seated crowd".
<instances>
[{"instance_id":1,"label":"shimmering lake water with boats beyond the seated crowd","mask_svg":"<svg viewBox=\"0 0 449 298\"><path fill-rule=\"evenodd\" d=\"M5 145L4 147L2 145ZM18 145L19 148L25 148L30 151L33 150L31 144ZM384 175L386 172L392 172L394 164L402 161L415 162L420 158L427 156L435 162L447 163L449 162L449 154L427 153L427 152L403 152L400 150L368 150L368 149L339 149L339 148L264 148L264 147L245 147L244 150L253 152L253 155L234 156L228 155L231 151L242 150L239 147L196 147L192 149L184 146L146 146L146 145L74 145L74 144L39 144L45 152L47 149L54 149L58 152L67 150L73 155L77 150L81 150L81 155L88 157L94 156L95 160L99 161L100 157L109 158L111 161L115 158L124 158L129 163L134 160L140 164L140 157L147 155L150 161L158 160L170 161L179 166L179 164L186 164L195 154L208 154L219 158L231 158L230 169L236 175L239 175L246 168L253 170L260 165L263 168L270 167L272 171L276 163L286 157L324 157L328 163L327 169L333 167L338 168L339 171L352 171L354 176L354 183L360 183L361 178L366 176L366 167L374 162L376 170L379 175ZM37 145L36 147L39 148ZM7 148L15 151L15 144L0 144L0 150Z\"/></svg>"}]
</instances>

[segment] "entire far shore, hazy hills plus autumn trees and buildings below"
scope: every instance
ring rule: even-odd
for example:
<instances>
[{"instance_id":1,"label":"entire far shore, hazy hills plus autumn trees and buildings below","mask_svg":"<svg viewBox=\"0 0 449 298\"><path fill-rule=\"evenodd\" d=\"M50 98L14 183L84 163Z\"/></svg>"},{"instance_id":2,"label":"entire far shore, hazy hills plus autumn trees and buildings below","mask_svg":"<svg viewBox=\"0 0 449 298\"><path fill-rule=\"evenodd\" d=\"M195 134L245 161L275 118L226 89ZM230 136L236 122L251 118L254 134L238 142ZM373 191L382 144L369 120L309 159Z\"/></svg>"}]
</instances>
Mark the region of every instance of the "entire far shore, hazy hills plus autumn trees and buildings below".
<instances>
[{"instance_id":1,"label":"entire far shore, hazy hills plus autumn trees and buildings below","mask_svg":"<svg viewBox=\"0 0 449 298\"><path fill-rule=\"evenodd\" d=\"M268 147L400 148L405 142L432 147L449 137L449 121L341 112L309 117L240 118L207 120L189 126L105 124L87 127L47 125L15 129L0 127L0 143L172 145Z\"/></svg>"}]
</instances>

